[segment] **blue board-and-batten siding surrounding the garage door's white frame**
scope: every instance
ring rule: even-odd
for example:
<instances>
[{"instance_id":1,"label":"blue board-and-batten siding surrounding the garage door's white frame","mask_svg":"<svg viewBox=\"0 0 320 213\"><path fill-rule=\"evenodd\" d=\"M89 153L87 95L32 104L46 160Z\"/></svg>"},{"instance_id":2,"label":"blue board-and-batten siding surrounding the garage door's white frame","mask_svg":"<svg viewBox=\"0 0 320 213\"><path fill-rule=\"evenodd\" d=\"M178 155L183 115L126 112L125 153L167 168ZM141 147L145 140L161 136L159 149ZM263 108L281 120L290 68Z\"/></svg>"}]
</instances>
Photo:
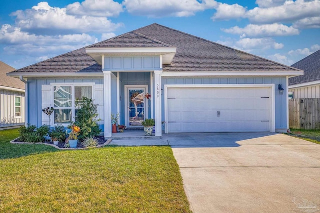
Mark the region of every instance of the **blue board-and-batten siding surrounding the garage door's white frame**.
<instances>
[{"instance_id":1,"label":"blue board-and-batten siding surrounding the garage door's white frame","mask_svg":"<svg viewBox=\"0 0 320 213\"><path fill-rule=\"evenodd\" d=\"M275 129L286 129L286 77L252 77L252 78L172 78L162 77L161 89L164 89L165 84L274 84L274 110L275 110ZM284 89L283 95L279 94L278 84L282 84ZM164 121L164 95L162 95L162 121Z\"/></svg>"}]
</instances>

